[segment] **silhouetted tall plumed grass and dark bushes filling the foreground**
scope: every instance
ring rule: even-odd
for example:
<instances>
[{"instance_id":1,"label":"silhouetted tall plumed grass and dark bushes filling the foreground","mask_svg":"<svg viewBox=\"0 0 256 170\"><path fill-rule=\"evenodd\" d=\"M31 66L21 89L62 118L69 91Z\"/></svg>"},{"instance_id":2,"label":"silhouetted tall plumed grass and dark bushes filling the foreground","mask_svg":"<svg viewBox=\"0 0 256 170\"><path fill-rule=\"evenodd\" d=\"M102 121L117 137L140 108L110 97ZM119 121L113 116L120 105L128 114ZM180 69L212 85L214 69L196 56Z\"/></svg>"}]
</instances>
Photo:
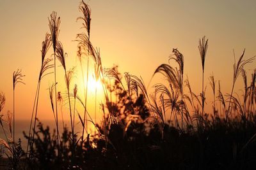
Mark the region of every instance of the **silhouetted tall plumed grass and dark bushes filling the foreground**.
<instances>
[{"instance_id":1,"label":"silhouetted tall plumed grass and dark bushes filling the foreground","mask_svg":"<svg viewBox=\"0 0 256 170\"><path fill-rule=\"evenodd\" d=\"M67 54L58 41L60 17L52 12L49 17L51 34L46 34L42 43L42 64L29 133L24 134L28 141L15 139L15 86L23 82L21 71L13 73L13 113L1 113L5 96L0 93L0 125L5 136L0 139L4 146L1 169L256 169L256 72L252 73L248 85L244 69L255 57L244 60L244 50L234 63L231 92L226 96L221 92L220 81L217 90L214 76L209 78L214 101L209 102L212 113L207 113L204 61L208 39L203 37L198 45L202 59L200 94L191 90L188 78L184 80L184 57L177 49L170 55L172 64L162 64L153 75L161 73L166 82L157 83L154 92L148 92L142 78L124 73L122 80L118 67L103 69L99 49L90 41L91 10L83 1L79 10L83 16L77 19L83 21L85 30L76 38L84 82L83 97L77 94L77 85L71 88L74 68L67 69ZM51 46L54 59L45 59ZM94 64L94 78L102 83L104 91L100 113L96 109L95 113L88 113L87 109L89 59ZM67 103L68 113L65 114L70 117L70 129L61 124L63 98L57 90L58 61L63 66L67 87L63 98ZM44 127L37 116L40 83L50 70L54 73L54 83L49 87L56 123L54 133L50 133L49 127ZM239 75L244 82L243 99L234 96ZM95 107L99 105L96 99L97 88ZM83 106L82 111L76 109L76 102ZM95 122L97 114L102 115L98 124ZM75 131L77 121L83 127L81 135ZM92 134L88 133L88 123L95 126ZM62 134L60 128L63 128ZM21 147L23 142L28 143L26 148Z\"/></svg>"}]
</instances>

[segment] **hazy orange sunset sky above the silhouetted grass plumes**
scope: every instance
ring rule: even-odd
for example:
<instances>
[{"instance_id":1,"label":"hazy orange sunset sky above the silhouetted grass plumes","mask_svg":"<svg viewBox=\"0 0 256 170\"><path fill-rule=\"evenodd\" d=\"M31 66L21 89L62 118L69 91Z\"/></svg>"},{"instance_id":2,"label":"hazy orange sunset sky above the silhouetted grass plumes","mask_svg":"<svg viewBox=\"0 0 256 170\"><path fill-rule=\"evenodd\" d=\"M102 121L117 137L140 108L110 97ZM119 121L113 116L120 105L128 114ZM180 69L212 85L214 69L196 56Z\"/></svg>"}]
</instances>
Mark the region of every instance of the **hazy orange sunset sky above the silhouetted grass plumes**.
<instances>
[{"instance_id":1,"label":"hazy orange sunset sky above the silhouetted grass plumes","mask_svg":"<svg viewBox=\"0 0 256 170\"><path fill-rule=\"evenodd\" d=\"M202 89L202 65L198 52L198 41L203 36L209 39L205 59L206 103L211 108L212 95L208 78L221 82L223 93L232 87L233 50L236 59L246 48L245 58L256 55L256 2L255 1L85 1L92 9L91 41L100 48L102 65L119 66L120 73L129 72L141 76L146 85L160 64L168 64L173 48L184 55L184 75L189 77L196 94ZM15 89L15 117L31 117L36 83L40 71L42 41L49 31L47 17L56 11L61 17L59 40L68 53L68 69L76 66L72 81L81 84L79 60L77 59L76 34L83 32L79 1L0 1L0 92L6 96L3 113L12 111L12 73L22 69L26 74L24 83ZM47 57L52 57L52 49ZM92 62L90 62L92 64ZM64 76L60 63L57 64L58 91L65 93ZM85 64L84 64L85 65ZM172 66L177 66L170 63ZM246 66L248 77L255 62ZM54 81L53 74L46 76L40 90L38 117L53 118L48 88ZM236 91L243 89L241 77ZM163 82L157 74L148 87ZM82 86L80 86L82 87ZM81 90L78 92L81 92ZM89 101L90 111L94 108L93 90ZM100 91L99 91L100 95ZM97 98L97 103L103 99ZM65 106L67 108L67 106ZM99 109L99 106L97 106ZM64 108L64 111L65 110Z\"/></svg>"}]
</instances>

